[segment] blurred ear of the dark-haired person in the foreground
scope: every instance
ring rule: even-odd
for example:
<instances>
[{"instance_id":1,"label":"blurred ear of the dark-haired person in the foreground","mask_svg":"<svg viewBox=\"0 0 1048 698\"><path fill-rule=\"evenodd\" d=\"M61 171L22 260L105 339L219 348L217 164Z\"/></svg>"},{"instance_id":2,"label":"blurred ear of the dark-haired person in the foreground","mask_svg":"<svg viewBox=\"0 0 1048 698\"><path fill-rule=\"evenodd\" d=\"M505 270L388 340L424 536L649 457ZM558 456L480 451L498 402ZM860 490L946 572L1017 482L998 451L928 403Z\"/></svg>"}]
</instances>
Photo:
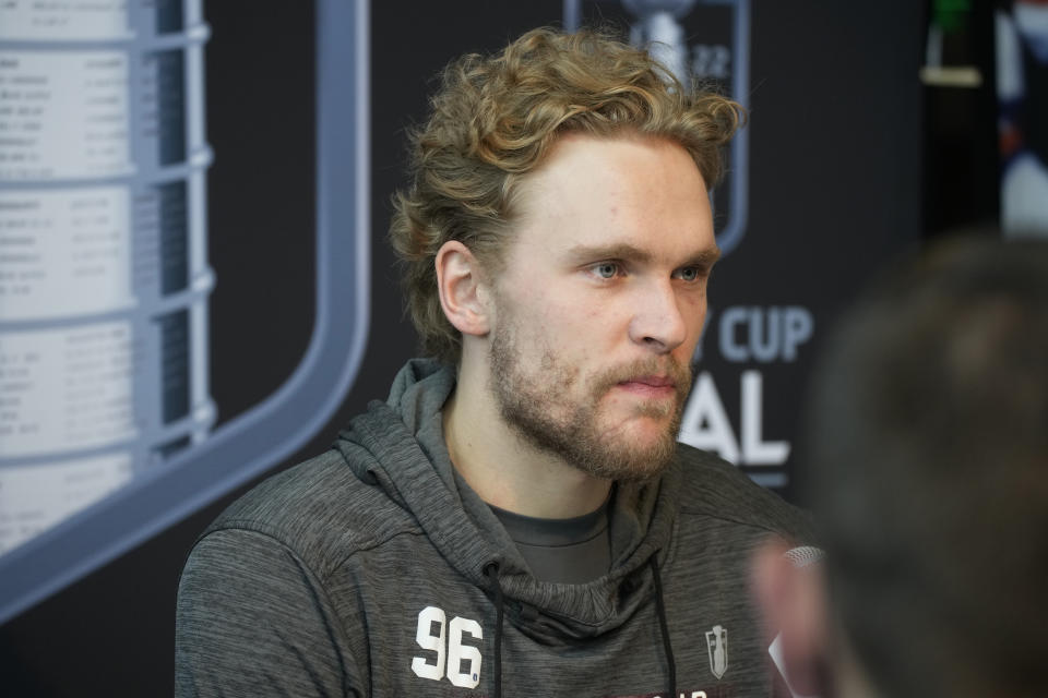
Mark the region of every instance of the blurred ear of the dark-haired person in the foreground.
<instances>
[{"instance_id":1,"label":"blurred ear of the dark-haired person in the foreground","mask_svg":"<svg viewBox=\"0 0 1048 698\"><path fill-rule=\"evenodd\" d=\"M787 555L789 551L777 538L757 549L753 594L764 619L765 638L775 646L771 653L790 693L824 695L830 659L825 573L821 562L799 566Z\"/></svg>"}]
</instances>

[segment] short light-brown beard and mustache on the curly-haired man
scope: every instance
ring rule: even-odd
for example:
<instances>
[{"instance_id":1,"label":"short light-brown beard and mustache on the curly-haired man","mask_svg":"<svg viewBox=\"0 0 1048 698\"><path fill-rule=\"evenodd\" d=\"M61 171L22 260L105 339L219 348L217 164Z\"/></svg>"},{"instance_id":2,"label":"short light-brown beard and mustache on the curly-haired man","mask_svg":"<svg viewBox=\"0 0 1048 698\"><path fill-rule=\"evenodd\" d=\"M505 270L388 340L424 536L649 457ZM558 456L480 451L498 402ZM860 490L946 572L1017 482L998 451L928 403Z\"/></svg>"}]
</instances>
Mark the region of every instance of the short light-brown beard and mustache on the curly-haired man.
<instances>
[{"instance_id":1,"label":"short light-brown beard and mustache on the curly-haired man","mask_svg":"<svg viewBox=\"0 0 1048 698\"><path fill-rule=\"evenodd\" d=\"M591 376L581 386L584 397L575 400L571 392L581 382L579 371L547 350L538 370L528 372L512 326L503 325L492 334L489 365L489 389L502 420L526 443L583 472L620 482L651 480L662 474L677 453L691 370L670 357L651 357ZM641 444L628 432L602 429L599 412L605 395L619 383L653 374L668 375L676 390L671 404L647 400L632 408L635 417L668 419L654 443Z\"/></svg>"}]
</instances>

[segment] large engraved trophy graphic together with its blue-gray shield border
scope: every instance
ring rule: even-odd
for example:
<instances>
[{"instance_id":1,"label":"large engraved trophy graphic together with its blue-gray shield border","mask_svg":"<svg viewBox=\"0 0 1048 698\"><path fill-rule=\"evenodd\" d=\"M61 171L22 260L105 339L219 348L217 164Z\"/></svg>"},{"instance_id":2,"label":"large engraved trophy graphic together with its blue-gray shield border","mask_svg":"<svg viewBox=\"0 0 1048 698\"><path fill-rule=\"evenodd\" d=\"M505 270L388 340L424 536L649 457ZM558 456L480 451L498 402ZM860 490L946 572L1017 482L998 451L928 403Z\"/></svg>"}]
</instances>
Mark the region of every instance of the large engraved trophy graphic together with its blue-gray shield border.
<instances>
[{"instance_id":1,"label":"large engraved trophy graphic together with its blue-gray shield border","mask_svg":"<svg viewBox=\"0 0 1048 698\"><path fill-rule=\"evenodd\" d=\"M364 356L369 4L317 0L312 333L215 421L201 4L0 2L0 623L289 457Z\"/></svg>"}]
</instances>

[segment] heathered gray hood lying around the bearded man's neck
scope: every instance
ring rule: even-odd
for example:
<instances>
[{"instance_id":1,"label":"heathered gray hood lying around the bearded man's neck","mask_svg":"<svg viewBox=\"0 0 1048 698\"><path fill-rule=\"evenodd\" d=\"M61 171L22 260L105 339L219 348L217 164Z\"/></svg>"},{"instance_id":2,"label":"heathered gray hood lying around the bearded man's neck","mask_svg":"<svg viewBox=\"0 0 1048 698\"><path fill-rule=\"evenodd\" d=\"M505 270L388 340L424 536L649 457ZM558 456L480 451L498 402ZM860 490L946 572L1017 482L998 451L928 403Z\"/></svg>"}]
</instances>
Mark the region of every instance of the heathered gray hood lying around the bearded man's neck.
<instances>
[{"instance_id":1,"label":"heathered gray hood lying around the bearded man's neck","mask_svg":"<svg viewBox=\"0 0 1048 698\"><path fill-rule=\"evenodd\" d=\"M441 408L454 386L452 369L432 360L409 361L389 400L371 402L340 434L336 448L358 478L378 484L410 513L451 567L489 595L492 585L485 568L497 564L507 617L522 631L553 643L622 625L654 593L648 563L671 532L680 466L675 462L648 484L616 486L607 575L584 585L539 581L496 515L451 464Z\"/></svg>"}]
</instances>

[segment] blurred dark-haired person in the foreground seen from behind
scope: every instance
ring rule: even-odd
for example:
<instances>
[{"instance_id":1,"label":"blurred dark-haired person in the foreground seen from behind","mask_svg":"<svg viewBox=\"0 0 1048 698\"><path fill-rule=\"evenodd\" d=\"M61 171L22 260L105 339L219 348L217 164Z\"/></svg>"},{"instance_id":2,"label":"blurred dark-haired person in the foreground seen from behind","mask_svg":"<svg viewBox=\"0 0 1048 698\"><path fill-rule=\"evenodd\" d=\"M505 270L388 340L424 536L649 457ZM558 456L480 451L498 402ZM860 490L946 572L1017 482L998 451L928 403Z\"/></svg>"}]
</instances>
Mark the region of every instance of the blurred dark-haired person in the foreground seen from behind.
<instances>
[{"instance_id":1,"label":"blurred dark-haired person in the foreground seen from behind","mask_svg":"<svg viewBox=\"0 0 1048 698\"><path fill-rule=\"evenodd\" d=\"M1048 695L1048 245L910 260L838 329L809 411L825 568L774 544L755 566L795 693Z\"/></svg>"}]
</instances>

